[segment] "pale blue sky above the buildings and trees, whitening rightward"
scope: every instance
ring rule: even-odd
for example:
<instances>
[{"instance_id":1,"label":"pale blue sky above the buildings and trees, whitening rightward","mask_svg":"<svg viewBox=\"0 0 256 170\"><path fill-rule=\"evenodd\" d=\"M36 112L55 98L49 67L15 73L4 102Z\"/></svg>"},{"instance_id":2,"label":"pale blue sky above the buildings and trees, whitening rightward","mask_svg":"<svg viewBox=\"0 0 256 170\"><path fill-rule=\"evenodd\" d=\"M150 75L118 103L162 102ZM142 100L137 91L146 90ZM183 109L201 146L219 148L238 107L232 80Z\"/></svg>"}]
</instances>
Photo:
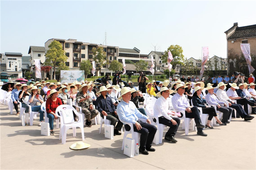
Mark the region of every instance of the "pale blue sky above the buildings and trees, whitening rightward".
<instances>
[{"instance_id":1,"label":"pale blue sky above the buildings and trees, whitening rightward","mask_svg":"<svg viewBox=\"0 0 256 170\"><path fill-rule=\"evenodd\" d=\"M256 24L256 1L1 1L0 52L28 55L51 38L140 49L183 48L185 57L227 57L226 34ZM153 44L153 45L152 45Z\"/></svg>"}]
</instances>

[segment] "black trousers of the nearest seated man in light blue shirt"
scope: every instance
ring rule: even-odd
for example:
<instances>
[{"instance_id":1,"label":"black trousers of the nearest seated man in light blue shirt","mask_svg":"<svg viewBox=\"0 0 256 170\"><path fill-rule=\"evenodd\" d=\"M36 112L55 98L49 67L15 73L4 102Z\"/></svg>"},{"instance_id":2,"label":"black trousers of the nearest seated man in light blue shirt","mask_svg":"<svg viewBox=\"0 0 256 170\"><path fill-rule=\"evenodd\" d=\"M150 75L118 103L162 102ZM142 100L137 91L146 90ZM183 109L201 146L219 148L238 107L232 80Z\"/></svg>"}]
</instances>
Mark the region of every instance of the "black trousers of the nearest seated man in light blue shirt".
<instances>
[{"instance_id":1,"label":"black trousers of the nearest seated man in light blue shirt","mask_svg":"<svg viewBox=\"0 0 256 170\"><path fill-rule=\"evenodd\" d=\"M142 122L141 120L137 121L141 125L141 129L137 130L135 124L133 124L134 132L140 133L140 149L145 150L146 148L151 148L155 134L156 134L156 126ZM129 131L131 127L126 124L124 125L125 130Z\"/></svg>"}]
</instances>

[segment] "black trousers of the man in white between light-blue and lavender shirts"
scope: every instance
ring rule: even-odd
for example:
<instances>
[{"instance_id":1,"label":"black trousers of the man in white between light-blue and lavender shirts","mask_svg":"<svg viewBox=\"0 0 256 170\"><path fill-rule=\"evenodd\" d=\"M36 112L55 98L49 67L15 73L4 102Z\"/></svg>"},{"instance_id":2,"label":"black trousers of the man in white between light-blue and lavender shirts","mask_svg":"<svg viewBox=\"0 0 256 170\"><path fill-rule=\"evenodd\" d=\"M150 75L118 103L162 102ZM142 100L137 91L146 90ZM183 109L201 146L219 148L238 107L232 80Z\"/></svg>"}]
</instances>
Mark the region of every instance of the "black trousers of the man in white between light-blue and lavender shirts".
<instances>
[{"instance_id":1,"label":"black trousers of the man in white between light-blue and lavender shirts","mask_svg":"<svg viewBox=\"0 0 256 170\"><path fill-rule=\"evenodd\" d=\"M172 116L171 116L172 117ZM172 117L173 120L177 122L176 125L173 125L171 121L166 119L164 116L158 117L158 121L161 124L164 124L165 126L170 127L169 130L166 132L165 137L167 136L175 136L179 126L180 126L180 119L177 117Z\"/></svg>"}]
</instances>

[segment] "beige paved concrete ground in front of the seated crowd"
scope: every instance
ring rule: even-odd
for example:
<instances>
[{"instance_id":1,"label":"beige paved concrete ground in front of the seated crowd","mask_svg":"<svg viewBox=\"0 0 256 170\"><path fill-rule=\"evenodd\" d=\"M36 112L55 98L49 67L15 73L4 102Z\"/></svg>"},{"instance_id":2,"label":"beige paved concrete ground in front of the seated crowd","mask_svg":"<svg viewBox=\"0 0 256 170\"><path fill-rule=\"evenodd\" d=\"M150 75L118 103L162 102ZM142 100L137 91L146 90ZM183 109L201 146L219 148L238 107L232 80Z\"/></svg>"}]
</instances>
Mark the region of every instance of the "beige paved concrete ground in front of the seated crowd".
<instances>
[{"instance_id":1,"label":"beige paved concrete ground in front of the seated crowd","mask_svg":"<svg viewBox=\"0 0 256 170\"><path fill-rule=\"evenodd\" d=\"M68 130L67 143L61 144L59 129L55 136L40 135L39 118L33 126L21 126L19 116L2 104L0 115L1 169L256 169L256 119L232 119L227 126L206 129L207 137L196 131L185 136L180 124L178 143L163 139L153 144L156 152L129 158L121 151L123 135L107 139L99 134L100 125L84 127L84 142L91 147L73 151L69 146L82 141L79 129L77 137Z\"/></svg>"}]
</instances>

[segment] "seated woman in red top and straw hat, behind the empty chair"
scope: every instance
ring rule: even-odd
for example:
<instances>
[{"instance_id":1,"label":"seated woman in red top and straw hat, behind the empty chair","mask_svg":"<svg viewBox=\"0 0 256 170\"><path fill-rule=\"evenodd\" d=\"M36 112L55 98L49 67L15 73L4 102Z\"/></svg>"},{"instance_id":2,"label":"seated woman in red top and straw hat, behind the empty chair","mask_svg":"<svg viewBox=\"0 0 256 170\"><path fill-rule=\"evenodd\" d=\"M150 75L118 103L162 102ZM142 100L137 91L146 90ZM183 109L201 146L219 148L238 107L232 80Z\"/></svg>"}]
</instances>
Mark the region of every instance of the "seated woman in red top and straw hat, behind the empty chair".
<instances>
[{"instance_id":1,"label":"seated woman in red top and straw hat, behind the empty chair","mask_svg":"<svg viewBox=\"0 0 256 170\"><path fill-rule=\"evenodd\" d=\"M58 98L59 93L61 93L61 92L57 91L55 89L52 89L50 91L50 94L47 96L47 100L46 100L45 107L46 107L47 117L49 118L51 135L54 135L53 120L58 119L58 117L55 114L55 110L58 106L62 105L61 100Z\"/></svg>"}]
</instances>

